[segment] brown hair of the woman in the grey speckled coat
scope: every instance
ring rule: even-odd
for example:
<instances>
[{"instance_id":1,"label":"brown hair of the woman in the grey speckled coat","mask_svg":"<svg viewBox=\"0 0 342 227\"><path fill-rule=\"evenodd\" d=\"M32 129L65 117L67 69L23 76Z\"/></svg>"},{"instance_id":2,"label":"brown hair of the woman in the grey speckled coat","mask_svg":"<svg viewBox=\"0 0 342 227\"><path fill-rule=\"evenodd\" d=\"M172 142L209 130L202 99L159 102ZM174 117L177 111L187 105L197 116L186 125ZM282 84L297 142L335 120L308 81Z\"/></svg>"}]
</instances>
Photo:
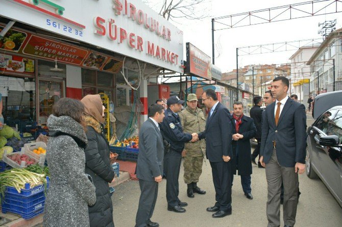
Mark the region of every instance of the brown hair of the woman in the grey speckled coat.
<instances>
[{"instance_id":1,"label":"brown hair of the woman in the grey speckled coat","mask_svg":"<svg viewBox=\"0 0 342 227\"><path fill-rule=\"evenodd\" d=\"M80 123L82 126L85 126L83 119L84 105L80 100L61 98L54 104L52 113L56 117L68 116Z\"/></svg>"}]
</instances>

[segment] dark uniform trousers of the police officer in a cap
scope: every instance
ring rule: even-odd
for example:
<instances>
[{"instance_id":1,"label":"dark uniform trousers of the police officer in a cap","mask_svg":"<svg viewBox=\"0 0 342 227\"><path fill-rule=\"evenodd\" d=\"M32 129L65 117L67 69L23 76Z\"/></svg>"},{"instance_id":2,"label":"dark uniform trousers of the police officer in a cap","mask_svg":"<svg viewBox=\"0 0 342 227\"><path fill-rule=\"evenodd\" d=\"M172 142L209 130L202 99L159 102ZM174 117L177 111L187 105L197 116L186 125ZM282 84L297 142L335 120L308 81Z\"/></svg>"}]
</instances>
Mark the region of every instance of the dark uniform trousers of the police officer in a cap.
<instances>
[{"instance_id":1,"label":"dark uniform trousers of the police officer in a cap","mask_svg":"<svg viewBox=\"0 0 342 227\"><path fill-rule=\"evenodd\" d=\"M170 149L164 155L164 173L166 176L166 201L168 207L179 205L179 171L181 168L182 155L180 152Z\"/></svg>"}]
</instances>

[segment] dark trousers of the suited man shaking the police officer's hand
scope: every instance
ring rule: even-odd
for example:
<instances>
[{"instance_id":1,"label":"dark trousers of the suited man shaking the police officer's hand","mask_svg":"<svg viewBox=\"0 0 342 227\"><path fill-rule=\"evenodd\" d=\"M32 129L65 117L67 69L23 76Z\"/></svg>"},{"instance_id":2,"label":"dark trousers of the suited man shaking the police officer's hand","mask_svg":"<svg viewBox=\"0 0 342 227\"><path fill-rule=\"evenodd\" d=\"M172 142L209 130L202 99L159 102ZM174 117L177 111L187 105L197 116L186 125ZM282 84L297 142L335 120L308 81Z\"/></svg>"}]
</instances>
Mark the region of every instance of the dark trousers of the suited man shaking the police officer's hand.
<instances>
[{"instance_id":1,"label":"dark trousers of the suited man shaking the police officer's hand","mask_svg":"<svg viewBox=\"0 0 342 227\"><path fill-rule=\"evenodd\" d=\"M232 209L232 171L231 161L210 162L212 180L215 187L215 206L228 212Z\"/></svg>"}]
</instances>

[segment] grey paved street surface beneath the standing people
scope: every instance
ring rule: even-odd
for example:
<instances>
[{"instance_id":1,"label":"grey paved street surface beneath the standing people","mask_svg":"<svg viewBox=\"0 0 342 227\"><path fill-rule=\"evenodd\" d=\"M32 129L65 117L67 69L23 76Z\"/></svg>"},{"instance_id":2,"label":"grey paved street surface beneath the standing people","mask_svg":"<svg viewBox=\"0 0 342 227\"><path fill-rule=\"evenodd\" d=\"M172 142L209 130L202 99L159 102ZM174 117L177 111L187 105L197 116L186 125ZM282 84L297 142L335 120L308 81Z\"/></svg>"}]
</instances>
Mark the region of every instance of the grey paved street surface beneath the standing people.
<instances>
[{"instance_id":1,"label":"grey paved street surface beneath the standing people","mask_svg":"<svg viewBox=\"0 0 342 227\"><path fill-rule=\"evenodd\" d=\"M307 125L311 125L313 119L308 117ZM300 200L297 210L296 226L329 226L337 227L342 223L342 208L328 191L320 179L311 180L306 174L299 176ZM267 184L265 171L253 165L252 194L253 200L248 200L240 184L238 176L234 177L232 188L232 215L224 218L212 218L212 213L206 208L213 206L215 191L212 183L209 161L203 163L203 173L198 186L206 190L205 195L195 194L194 198L186 195L186 184L183 181L183 166L179 177L179 198L187 202L185 213L167 211L165 198L166 180L159 185L158 200L152 221L160 226L266 226L266 200ZM138 208L140 189L138 181L127 181L115 187L112 196L114 206L114 223L116 227L135 225L135 215ZM281 206L282 210L282 206ZM281 226L283 226L281 212Z\"/></svg>"}]
</instances>

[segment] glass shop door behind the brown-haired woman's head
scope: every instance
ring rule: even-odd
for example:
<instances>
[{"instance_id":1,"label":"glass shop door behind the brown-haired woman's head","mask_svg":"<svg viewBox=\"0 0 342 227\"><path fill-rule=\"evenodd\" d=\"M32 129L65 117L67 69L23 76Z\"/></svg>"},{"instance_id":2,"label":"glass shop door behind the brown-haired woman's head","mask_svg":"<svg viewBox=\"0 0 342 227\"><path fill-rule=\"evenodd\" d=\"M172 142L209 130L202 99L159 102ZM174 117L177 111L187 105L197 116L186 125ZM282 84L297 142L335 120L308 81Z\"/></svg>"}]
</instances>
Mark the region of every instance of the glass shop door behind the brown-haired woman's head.
<instances>
[{"instance_id":1,"label":"glass shop door behind the brown-haired woman's head","mask_svg":"<svg viewBox=\"0 0 342 227\"><path fill-rule=\"evenodd\" d=\"M45 125L52 114L54 104L64 95L65 82L58 78L39 78L39 118L38 122Z\"/></svg>"}]
</instances>

